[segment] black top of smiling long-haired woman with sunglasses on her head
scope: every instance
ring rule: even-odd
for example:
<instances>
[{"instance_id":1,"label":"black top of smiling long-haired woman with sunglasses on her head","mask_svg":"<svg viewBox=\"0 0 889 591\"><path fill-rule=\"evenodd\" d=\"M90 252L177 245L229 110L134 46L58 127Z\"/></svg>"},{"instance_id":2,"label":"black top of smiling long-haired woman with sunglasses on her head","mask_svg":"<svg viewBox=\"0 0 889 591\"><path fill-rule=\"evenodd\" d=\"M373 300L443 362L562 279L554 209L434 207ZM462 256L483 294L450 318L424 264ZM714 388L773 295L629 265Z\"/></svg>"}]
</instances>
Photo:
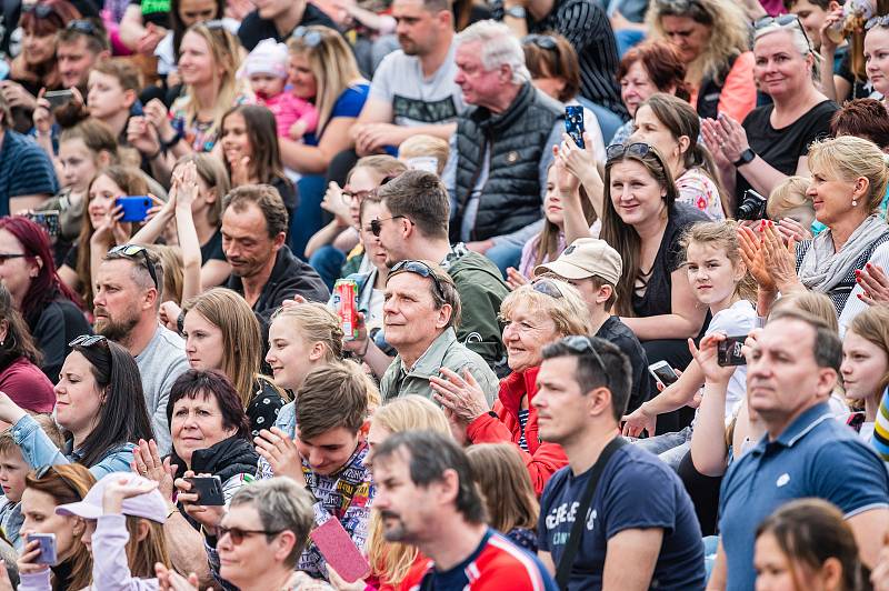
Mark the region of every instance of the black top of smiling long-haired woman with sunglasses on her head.
<instances>
[{"instance_id":1,"label":"black top of smiling long-haired woman with sunglasses on her head","mask_svg":"<svg viewBox=\"0 0 889 591\"><path fill-rule=\"evenodd\" d=\"M672 279L670 273L682 264L682 247L679 240L686 229L699 221L710 221L698 208L675 203L667 216L667 229L651 268L648 288L641 298L633 293L632 309L639 318L672 313Z\"/></svg>"}]
</instances>

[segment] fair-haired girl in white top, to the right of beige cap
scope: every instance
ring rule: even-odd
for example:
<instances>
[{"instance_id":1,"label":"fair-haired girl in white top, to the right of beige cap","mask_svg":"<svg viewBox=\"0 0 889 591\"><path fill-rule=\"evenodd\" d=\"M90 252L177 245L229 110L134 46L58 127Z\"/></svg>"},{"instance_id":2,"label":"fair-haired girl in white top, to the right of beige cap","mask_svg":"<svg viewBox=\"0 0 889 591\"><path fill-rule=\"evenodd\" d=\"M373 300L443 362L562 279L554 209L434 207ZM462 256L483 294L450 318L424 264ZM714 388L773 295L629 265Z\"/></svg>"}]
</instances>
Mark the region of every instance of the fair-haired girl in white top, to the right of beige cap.
<instances>
[{"instance_id":1,"label":"fair-haired girl in white top, to the right of beige cap","mask_svg":"<svg viewBox=\"0 0 889 591\"><path fill-rule=\"evenodd\" d=\"M701 307L712 314L706 335L717 332L726 337L748 334L755 327L756 310L753 281L741 260L740 244L733 222L699 222L686 230L680 242L685 250L683 267L688 283ZM680 368L682 374L672 384L631 414L623 417L623 433L639 437L642 429L648 439L637 442L642 449L656 453L673 469L691 445L692 427L679 432L665 432L655 437L658 415L693 405L699 394L703 372L697 361ZM725 419L730 421L747 395L747 367L738 365L731 374L726 392Z\"/></svg>"}]
</instances>

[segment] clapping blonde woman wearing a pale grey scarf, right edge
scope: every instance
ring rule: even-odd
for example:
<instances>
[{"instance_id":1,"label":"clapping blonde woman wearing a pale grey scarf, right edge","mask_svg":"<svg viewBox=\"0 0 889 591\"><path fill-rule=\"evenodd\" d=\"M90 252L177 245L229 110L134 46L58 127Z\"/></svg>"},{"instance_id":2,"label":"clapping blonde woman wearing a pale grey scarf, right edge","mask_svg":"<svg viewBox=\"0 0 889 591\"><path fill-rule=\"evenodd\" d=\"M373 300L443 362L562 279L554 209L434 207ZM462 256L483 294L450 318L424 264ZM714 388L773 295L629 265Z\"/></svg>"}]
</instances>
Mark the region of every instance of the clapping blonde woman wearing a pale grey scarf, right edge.
<instances>
[{"instance_id":1,"label":"clapping blonde woman wearing a pale grey scarf, right edge","mask_svg":"<svg viewBox=\"0 0 889 591\"><path fill-rule=\"evenodd\" d=\"M827 229L796 244L796 253L790 251L792 240L786 248L771 222L759 232L742 230L745 262L759 283L760 315L777 293L805 290L826 293L841 314L861 269L889 241L889 226L877 214L889 182L885 159L875 143L861 138L816 142L809 151L812 183L807 196Z\"/></svg>"}]
</instances>

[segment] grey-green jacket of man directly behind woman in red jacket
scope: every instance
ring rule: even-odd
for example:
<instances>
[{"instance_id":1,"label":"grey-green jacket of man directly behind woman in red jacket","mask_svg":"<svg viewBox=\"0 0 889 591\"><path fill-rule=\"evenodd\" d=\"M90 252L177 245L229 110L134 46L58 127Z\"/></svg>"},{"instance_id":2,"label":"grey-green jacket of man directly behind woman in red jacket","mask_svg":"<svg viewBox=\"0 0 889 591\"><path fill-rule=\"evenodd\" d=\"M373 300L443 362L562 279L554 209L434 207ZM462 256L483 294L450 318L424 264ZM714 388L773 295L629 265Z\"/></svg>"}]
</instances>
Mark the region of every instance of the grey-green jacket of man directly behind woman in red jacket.
<instances>
[{"instance_id":1,"label":"grey-green jacket of man directly behind woman in red jacket","mask_svg":"<svg viewBox=\"0 0 889 591\"><path fill-rule=\"evenodd\" d=\"M439 375L441 368L448 368L459 375L463 374L463 370L469 369L485 391L488 403L493 405L500 389L497 375L478 353L460 344L452 328L432 341L429 349L407 372L401 355L396 357L380 380L382 401L408 394L419 394L431 399L432 388L429 385L429 378Z\"/></svg>"}]
</instances>

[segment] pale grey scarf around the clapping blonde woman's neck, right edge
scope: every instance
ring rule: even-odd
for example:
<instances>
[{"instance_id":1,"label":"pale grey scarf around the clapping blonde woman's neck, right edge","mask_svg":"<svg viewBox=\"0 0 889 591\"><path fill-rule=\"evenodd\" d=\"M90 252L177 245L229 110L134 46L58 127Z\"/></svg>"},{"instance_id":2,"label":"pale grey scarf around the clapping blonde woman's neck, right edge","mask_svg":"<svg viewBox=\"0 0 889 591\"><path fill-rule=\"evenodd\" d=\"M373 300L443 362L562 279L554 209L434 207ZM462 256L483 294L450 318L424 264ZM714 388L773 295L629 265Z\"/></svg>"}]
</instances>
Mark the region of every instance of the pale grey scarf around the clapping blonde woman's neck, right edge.
<instances>
[{"instance_id":1,"label":"pale grey scarf around the clapping blonde woman's neck, right edge","mask_svg":"<svg viewBox=\"0 0 889 591\"><path fill-rule=\"evenodd\" d=\"M833 250L830 228L815 237L811 248L802 257L797 274L808 289L827 293L855 270L858 259L871 249L873 242L889 231L877 216L868 216L855 229L839 252Z\"/></svg>"}]
</instances>

